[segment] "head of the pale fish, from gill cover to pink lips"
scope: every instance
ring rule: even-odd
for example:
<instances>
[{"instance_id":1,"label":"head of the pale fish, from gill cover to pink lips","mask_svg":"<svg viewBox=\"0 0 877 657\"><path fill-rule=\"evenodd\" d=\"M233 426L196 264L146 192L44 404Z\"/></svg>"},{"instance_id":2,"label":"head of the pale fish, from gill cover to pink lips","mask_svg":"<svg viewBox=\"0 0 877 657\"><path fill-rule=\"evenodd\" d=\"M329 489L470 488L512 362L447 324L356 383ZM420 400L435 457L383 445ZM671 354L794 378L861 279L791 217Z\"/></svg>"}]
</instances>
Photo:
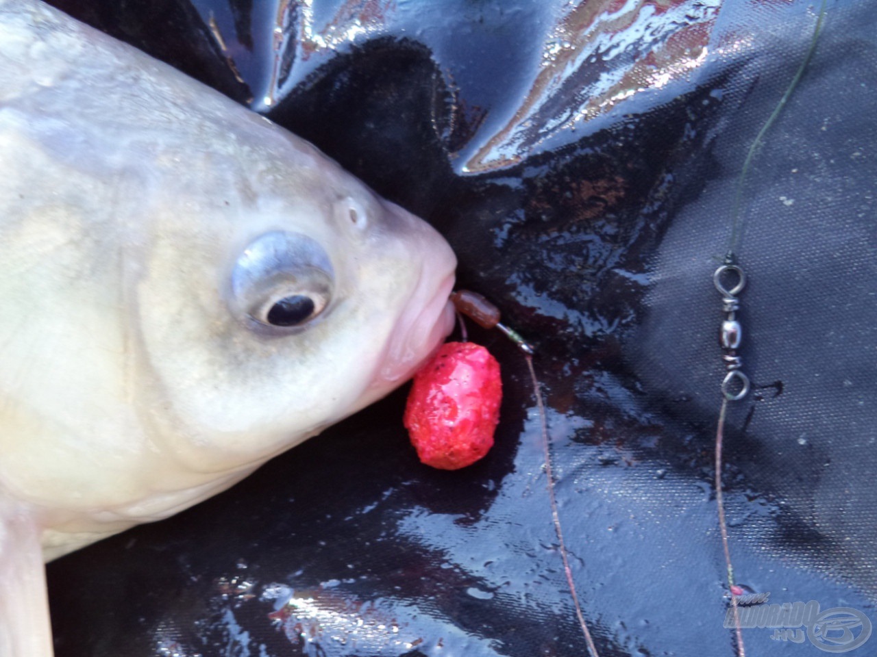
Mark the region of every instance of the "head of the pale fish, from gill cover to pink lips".
<instances>
[{"instance_id":1,"label":"head of the pale fish, from gill cover to pink lips","mask_svg":"<svg viewBox=\"0 0 877 657\"><path fill-rule=\"evenodd\" d=\"M439 233L276 132L285 149L192 181L216 186L197 190L213 208L158 209L132 295L149 406L192 468L319 433L410 378L453 328L456 259Z\"/></svg>"}]
</instances>

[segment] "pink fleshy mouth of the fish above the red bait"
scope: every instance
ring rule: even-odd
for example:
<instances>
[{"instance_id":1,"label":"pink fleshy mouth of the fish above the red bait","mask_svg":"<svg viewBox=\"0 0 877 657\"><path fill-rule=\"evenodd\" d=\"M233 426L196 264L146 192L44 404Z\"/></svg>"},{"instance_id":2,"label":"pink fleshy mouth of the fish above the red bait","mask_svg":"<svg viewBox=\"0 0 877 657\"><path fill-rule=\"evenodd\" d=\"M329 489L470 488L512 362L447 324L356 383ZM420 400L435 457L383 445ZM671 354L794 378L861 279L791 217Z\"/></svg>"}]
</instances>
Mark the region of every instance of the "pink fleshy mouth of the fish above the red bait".
<instances>
[{"instance_id":1,"label":"pink fleshy mouth of the fish above the red bait","mask_svg":"<svg viewBox=\"0 0 877 657\"><path fill-rule=\"evenodd\" d=\"M412 312L403 313L394 336L390 338L384 364L381 366L377 385L399 385L420 369L424 362L439 348L453 330L454 309L449 300L453 291L453 272L441 279L438 286L426 280L424 272L411 293L409 304L427 300ZM433 286L431 293L424 288Z\"/></svg>"}]
</instances>

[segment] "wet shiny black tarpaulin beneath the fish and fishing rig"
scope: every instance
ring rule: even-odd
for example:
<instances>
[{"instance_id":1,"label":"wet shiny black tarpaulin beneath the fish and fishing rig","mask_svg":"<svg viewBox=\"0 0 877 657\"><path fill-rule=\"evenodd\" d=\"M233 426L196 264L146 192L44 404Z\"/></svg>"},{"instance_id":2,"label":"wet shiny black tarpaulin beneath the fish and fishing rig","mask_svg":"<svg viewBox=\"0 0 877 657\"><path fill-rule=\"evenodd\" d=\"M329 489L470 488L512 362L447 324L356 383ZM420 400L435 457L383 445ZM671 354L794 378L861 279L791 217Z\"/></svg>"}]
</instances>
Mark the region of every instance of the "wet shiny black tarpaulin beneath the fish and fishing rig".
<instances>
[{"instance_id":1,"label":"wet shiny black tarpaulin beneath the fish and fishing rig","mask_svg":"<svg viewBox=\"0 0 877 657\"><path fill-rule=\"evenodd\" d=\"M538 347L600 654L736 653L712 273L818 0L55 4L437 226L460 286ZM731 405L723 472L738 582L859 611L857 636L877 622L875 9L828 1L744 181L752 392ZM585 654L523 357L471 333L506 392L483 462L417 463L398 392L203 505L54 562L59 656ZM742 632L752 654L877 649L794 630Z\"/></svg>"}]
</instances>

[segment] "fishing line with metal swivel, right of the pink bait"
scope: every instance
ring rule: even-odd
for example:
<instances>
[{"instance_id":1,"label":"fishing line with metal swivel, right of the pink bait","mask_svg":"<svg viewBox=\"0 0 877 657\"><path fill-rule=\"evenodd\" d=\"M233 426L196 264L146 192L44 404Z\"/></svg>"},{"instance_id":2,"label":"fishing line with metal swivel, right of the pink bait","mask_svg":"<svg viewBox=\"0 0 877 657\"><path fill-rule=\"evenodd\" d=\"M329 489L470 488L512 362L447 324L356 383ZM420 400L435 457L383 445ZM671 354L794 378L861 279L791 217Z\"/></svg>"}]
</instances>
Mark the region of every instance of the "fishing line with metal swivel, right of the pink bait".
<instances>
[{"instance_id":1,"label":"fishing line with metal swivel, right of the pink bait","mask_svg":"<svg viewBox=\"0 0 877 657\"><path fill-rule=\"evenodd\" d=\"M782 95L780 102L777 103L774 111L771 112L769 117L767 117L765 124L761 126L761 130L759 130L759 133L755 136L755 139L752 141L752 145L749 147L749 151L746 153L746 158L743 162L743 167L740 170L740 176L738 178L737 191L734 194L734 204L731 212L731 234L728 238L728 250L726 251L724 256L724 264L720 265L716 272L713 273L713 284L716 286L718 292L722 294L723 311L726 314L725 320L722 322L720 339L722 350L724 350L724 355L722 356L722 359L727 370L727 373L725 374L721 385L723 399L722 406L718 413L718 423L716 428L716 505L718 510L719 533L722 536L722 548L724 551L724 562L728 579L728 589L731 592L731 609L733 610L734 631L735 638L737 639L738 657L745 657L746 654L745 646L743 644L743 632L740 625L740 616L738 609L738 597L739 594L742 594L742 591L734 583L734 567L733 563L731 562L731 548L729 547L728 540L728 526L724 514L724 494L722 492L722 449L724 443L724 425L728 413L728 404L730 402L744 399L749 393L750 389L749 378L742 370L743 363L738 355L738 348L742 337L742 329L736 317L736 313L739 308L739 301L737 299L737 296L743 291L743 288L746 284L745 272L737 264L737 251L739 248L740 234L742 230L740 208L743 201L743 192L745 188L746 177L748 176L749 170L752 166L752 159L754 159L755 157L755 152L763 143L767 131L770 130L771 126L780 116L782 109L786 106L788 99L791 97L793 91L798 86L798 83L801 81L804 70L807 68L809 61L813 56L813 53L816 51L816 42L819 39L819 33L822 32L827 3L828 0L822 0L822 5L819 9L819 15L816 18L816 25L813 29L813 36L810 39L809 47L807 49L807 52L804 54L804 59L802 60L801 65L795 72L795 76L792 78L792 81L788 83L788 87L786 88L785 93Z\"/></svg>"}]
</instances>

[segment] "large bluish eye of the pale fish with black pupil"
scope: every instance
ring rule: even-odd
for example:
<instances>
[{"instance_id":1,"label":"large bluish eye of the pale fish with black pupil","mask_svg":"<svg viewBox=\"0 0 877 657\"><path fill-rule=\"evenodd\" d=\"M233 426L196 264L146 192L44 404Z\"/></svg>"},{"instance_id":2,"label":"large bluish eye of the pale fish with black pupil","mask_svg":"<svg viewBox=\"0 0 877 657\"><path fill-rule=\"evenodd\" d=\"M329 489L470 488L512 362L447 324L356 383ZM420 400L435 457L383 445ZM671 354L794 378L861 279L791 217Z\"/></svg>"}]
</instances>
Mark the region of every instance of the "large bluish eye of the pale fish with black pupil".
<instances>
[{"instance_id":1,"label":"large bluish eye of the pale fish with black pupil","mask_svg":"<svg viewBox=\"0 0 877 657\"><path fill-rule=\"evenodd\" d=\"M332 302L328 254L301 233L272 231L249 244L232 271L232 310L256 326L300 329Z\"/></svg>"}]
</instances>

